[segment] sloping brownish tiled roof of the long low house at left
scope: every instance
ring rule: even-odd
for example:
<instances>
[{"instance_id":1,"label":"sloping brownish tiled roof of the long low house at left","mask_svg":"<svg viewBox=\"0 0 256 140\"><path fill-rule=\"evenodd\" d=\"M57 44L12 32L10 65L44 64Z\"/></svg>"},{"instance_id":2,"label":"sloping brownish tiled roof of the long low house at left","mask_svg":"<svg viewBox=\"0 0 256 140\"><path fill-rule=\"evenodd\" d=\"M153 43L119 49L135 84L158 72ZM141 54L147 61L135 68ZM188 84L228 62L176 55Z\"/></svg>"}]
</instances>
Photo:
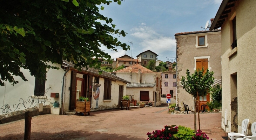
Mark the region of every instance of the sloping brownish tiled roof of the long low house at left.
<instances>
[{"instance_id":1,"label":"sloping brownish tiled roof of the long low house at left","mask_svg":"<svg viewBox=\"0 0 256 140\"><path fill-rule=\"evenodd\" d=\"M67 64L67 65L69 65L71 67L74 67L74 64L72 62L63 61L63 63L65 63L65 64ZM90 67L88 67L88 69L86 69L86 68L83 67L83 68L81 68L81 70L85 71L85 72L88 72L88 73L92 73L92 74L100 76L100 77L114 79L114 80L119 80L119 81L122 81L122 82L125 82L125 83L130 83L127 80L124 80L124 79L122 79L120 77L112 75L111 73L108 73L108 72L103 71L103 70L101 70L102 71L101 75L99 74L99 69L94 69L94 68L90 68Z\"/></svg>"}]
</instances>

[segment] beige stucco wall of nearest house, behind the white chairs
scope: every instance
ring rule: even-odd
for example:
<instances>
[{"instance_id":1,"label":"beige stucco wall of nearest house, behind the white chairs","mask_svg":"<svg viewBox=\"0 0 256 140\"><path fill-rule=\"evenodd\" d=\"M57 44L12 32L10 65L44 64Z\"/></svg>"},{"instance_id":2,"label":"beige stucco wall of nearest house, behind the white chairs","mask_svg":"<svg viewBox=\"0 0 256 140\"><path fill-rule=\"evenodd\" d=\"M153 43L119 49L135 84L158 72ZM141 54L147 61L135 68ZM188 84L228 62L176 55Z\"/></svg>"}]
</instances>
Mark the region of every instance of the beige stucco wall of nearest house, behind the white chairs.
<instances>
[{"instance_id":1,"label":"beige stucco wall of nearest house, behind the white chairs","mask_svg":"<svg viewBox=\"0 0 256 140\"><path fill-rule=\"evenodd\" d=\"M237 76L237 123L238 132L241 130L242 120L248 118L250 124L256 122L254 109L255 102L255 87L256 87L256 18L255 0L240 0L235 3L235 7L229 13L227 20L222 25L222 128L230 132L234 124L233 115L234 109L230 105L234 101L235 96L231 93L230 85L231 75L236 73ZM245 10L246 9L246 10ZM230 45L233 42L231 21L236 16L236 31L237 31L237 53L231 57ZM224 112L228 112L228 125L224 125Z\"/></svg>"}]
</instances>

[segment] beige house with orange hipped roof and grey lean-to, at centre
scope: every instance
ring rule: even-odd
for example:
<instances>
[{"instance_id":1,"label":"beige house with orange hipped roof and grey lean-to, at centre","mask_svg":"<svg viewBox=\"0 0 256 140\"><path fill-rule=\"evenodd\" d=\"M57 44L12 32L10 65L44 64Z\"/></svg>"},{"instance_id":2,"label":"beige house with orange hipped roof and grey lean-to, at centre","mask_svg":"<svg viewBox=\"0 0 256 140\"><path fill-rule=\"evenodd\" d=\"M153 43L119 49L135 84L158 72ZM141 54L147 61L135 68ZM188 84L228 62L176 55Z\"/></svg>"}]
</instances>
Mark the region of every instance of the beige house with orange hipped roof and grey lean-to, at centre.
<instances>
[{"instance_id":1,"label":"beige house with orange hipped roof and grey lean-to, at centre","mask_svg":"<svg viewBox=\"0 0 256 140\"><path fill-rule=\"evenodd\" d=\"M114 73L117 77L130 81L126 85L126 93L134 95L134 100L153 101L153 106L161 104L161 76L139 64L117 70Z\"/></svg>"}]
</instances>

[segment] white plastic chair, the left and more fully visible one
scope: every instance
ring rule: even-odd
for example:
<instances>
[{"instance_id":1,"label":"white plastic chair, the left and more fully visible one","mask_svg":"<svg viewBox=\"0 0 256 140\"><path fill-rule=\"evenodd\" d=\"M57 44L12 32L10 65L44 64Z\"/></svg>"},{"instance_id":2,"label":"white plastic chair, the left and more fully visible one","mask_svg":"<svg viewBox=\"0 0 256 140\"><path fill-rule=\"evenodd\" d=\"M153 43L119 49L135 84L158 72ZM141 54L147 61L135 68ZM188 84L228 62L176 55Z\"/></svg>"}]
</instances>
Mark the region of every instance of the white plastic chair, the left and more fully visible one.
<instances>
[{"instance_id":1,"label":"white plastic chair, the left and more fully visible one","mask_svg":"<svg viewBox=\"0 0 256 140\"><path fill-rule=\"evenodd\" d=\"M247 127L248 127L249 119L244 119L242 122L242 132L241 133L235 133L230 132L228 133L228 140L234 140L236 138L245 137L247 133Z\"/></svg>"}]
</instances>

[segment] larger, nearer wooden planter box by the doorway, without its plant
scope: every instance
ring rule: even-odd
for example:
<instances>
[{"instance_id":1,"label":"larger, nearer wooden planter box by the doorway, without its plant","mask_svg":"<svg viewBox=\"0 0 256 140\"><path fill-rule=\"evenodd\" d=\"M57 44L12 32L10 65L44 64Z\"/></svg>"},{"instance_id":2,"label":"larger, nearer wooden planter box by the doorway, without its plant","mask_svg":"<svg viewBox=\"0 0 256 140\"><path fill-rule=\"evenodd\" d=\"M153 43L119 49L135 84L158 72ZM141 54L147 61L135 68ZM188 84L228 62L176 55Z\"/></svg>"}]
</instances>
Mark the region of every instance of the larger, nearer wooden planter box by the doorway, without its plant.
<instances>
[{"instance_id":1,"label":"larger, nearer wooden planter box by the doorway, without its plant","mask_svg":"<svg viewBox=\"0 0 256 140\"><path fill-rule=\"evenodd\" d=\"M75 104L75 115L83 113L83 116L85 116L86 113L90 115L90 108L91 108L91 101L78 101L76 99ZM78 113L79 112L79 113Z\"/></svg>"}]
</instances>

